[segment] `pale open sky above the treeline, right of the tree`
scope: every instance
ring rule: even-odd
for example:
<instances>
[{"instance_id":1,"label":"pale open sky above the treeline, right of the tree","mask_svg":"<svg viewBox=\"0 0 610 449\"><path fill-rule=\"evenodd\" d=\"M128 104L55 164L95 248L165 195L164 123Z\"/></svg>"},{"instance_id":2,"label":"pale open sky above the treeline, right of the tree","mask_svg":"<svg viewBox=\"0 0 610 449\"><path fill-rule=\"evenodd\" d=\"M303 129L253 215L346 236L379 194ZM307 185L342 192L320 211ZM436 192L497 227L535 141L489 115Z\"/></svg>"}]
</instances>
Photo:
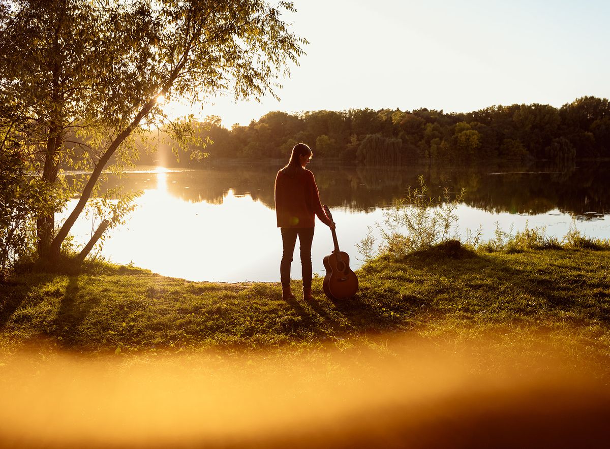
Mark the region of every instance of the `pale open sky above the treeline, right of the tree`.
<instances>
[{"instance_id":1,"label":"pale open sky above the treeline, right of the tree","mask_svg":"<svg viewBox=\"0 0 610 449\"><path fill-rule=\"evenodd\" d=\"M491 105L560 107L610 97L610 2L592 0L295 0L285 15L306 55L280 101L231 96L193 112L247 125L269 111ZM184 109L183 109L184 110Z\"/></svg>"}]
</instances>

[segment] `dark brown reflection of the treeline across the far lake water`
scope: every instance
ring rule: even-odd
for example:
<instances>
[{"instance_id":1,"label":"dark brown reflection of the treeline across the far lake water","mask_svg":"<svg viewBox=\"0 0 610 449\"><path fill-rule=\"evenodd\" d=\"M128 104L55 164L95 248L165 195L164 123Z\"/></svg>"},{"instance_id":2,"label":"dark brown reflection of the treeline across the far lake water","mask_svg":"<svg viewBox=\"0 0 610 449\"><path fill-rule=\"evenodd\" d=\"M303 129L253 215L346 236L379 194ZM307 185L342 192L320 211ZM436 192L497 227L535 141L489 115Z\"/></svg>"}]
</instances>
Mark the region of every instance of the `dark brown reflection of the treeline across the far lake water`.
<instances>
[{"instance_id":1,"label":"dark brown reflection of the treeline across the far lake water","mask_svg":"<svg viewBox=\"0 0 610 449\"><path fill-rule=\"evenodd\" d=\"M273 180L279 166L234 165L199 170L167 171L167 191L189 202L220 204L228 189L250 195L273 208ZM366 168L355 166L313 166L324 200L331 207L370 211L390 205L404 196L407 186L426 179L431 194L447 186L451 191L467 190L465 204L492 213L539 214L558 209L584 216L608 211L610 163L557 164L528 167L503 166L412 166L408 168ZM152 176L151 176L152 175ZM158 182L151 172L133 172L126 178L110 178L108 185L123 183L129 189L151 189Z\"/></svg>"}]
</instances>

